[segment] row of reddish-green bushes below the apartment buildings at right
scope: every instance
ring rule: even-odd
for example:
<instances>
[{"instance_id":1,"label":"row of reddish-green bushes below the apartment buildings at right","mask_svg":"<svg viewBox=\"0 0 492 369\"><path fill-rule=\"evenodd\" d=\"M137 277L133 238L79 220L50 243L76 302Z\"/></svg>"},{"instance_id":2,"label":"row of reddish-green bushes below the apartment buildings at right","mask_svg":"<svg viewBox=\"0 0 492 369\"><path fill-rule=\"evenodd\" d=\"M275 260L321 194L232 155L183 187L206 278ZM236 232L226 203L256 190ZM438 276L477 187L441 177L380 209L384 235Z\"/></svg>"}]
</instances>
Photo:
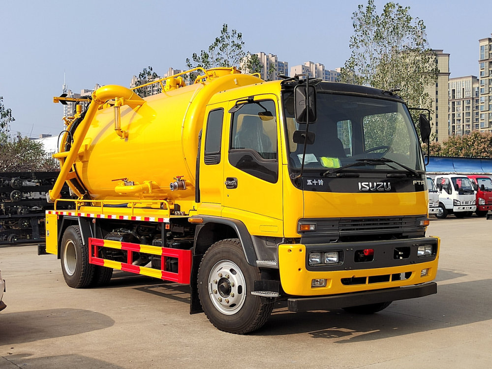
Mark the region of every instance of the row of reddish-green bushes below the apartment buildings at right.
<instances>
[{"instance_id":1,"label":"row of reddish-green bushes below the apartment buildings at right","mask_svg":"<svg viewBox=\"0 0 492 369\"><path fill-rule=\"evenodd\" d=\"M424 153L427 145L423 146ZM464 136L449 136L442 144L431 142L431 156L492 157L492 133L473 131Z\"/></svg>"}]
</instances>

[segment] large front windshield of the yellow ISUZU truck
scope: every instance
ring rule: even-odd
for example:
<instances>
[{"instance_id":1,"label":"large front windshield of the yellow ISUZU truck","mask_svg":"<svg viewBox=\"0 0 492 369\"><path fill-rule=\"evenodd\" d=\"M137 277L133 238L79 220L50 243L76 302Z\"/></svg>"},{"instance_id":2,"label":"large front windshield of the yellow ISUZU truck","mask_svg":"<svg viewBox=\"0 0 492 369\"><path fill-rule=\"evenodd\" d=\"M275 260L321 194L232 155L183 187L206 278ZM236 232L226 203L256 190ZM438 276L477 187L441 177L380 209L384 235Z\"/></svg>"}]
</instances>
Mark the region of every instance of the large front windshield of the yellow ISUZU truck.
<instances>
[{"instance_id":1,"label":"large front windshield of the yellow ISUZU truck","mask_svg":"<svg viewBox=\"0 0 492 369\"><path fill-rule=\"evenodd\" d=\"M406 107L397 101L361 96L317 92L317 121L309 124L314 143L307 145L305 170L342 168L344 171L404 171L400 163L412 170L423 170L419 140ZM283 95L285 125L289 142L289 165L301 168L303 144L293 141L296 130L306 124L294 118L293 94ZM389 159L387 163L363 160ZM393 161L393 162L392 162ZM370 165L368 165L370 164Z\"/></svg>"}]
</instances>

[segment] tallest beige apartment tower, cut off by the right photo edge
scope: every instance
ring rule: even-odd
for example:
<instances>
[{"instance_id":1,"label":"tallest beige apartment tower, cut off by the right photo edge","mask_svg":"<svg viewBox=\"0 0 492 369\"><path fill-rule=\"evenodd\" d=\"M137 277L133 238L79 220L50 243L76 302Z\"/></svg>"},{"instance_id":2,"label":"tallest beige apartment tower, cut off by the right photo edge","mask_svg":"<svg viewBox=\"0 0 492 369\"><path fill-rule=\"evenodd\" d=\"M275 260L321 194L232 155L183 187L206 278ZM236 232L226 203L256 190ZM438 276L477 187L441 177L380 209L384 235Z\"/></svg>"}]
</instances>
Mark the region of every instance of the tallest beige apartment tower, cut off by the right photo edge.
<instances>
[{"instance_id":1,"label":"tallest beige apartment tower, cut off by the right photo edge","mask_svg":"<svg viewBox=\"0 0 492 369\"><path fill-rule=\"evenodd\" d=\"M479 127L480 132L492 131L492 38L479 40Z\"/></svg>"}]
</instances>

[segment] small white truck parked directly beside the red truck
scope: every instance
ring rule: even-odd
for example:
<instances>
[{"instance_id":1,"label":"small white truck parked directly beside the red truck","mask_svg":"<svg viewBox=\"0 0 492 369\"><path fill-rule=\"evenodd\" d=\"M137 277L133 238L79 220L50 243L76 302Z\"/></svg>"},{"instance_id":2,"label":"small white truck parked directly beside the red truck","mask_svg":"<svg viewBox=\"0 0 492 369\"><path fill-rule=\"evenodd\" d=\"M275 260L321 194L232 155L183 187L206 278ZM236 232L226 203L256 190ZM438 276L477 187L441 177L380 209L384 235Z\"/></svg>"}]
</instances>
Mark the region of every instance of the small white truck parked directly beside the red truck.
<instances>
[{"instance_id":1,"label":"small white truck parked directly beside the red truck","mask_svg":"<svg viewBox=\"0 0 492 369\"><path fill-rule=\"evenodd\" d=\"M477 209L475 190L466 176L446 174L436 176L434 183L439 193L439 209L435 215L444 219L449 214L457 218L470 216Z\"/></svg>"}]
</instances>

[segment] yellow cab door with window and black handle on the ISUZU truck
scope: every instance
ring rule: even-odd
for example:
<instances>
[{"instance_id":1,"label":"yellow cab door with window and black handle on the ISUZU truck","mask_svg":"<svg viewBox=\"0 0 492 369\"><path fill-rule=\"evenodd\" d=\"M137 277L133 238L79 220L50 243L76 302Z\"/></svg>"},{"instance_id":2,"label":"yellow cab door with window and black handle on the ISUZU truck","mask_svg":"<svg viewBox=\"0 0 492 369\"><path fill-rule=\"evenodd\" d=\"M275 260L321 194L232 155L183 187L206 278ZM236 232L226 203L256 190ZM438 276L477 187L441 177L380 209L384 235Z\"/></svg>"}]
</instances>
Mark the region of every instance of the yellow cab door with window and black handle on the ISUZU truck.
<instances>
[{"instance_id":1,"label":"yellow cab door with window and black handle on the ISUZU truck","mask_svg":"<svg viewBox=\"0 0 492 369\"><path fill-rule=\"evenodd\" d=\"M226 122L222 216L243 221L251 234L281 236L277 97L264 94L231 101Z\"/></svg>"}]
</instances>

